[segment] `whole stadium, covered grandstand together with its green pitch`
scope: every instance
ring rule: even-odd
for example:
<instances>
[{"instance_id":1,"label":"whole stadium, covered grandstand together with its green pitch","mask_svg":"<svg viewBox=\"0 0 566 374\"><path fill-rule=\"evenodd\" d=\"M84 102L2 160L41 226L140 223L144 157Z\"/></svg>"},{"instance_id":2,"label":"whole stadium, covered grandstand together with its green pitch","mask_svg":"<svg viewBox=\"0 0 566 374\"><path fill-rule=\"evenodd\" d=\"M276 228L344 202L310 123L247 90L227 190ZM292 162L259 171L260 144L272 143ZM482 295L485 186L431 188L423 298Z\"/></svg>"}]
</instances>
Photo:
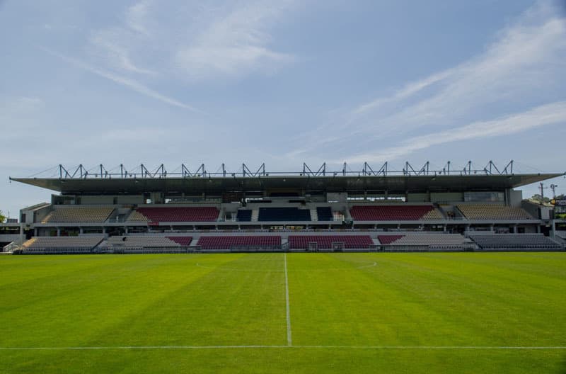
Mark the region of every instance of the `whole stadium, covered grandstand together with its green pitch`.
<instances>
[{"instance_id":1,"label":"whole stadium, covered grandstand together with its green pitch","mask_svg":"<svg viewBox=\"0 0 566 374\"><path fill-rule=\"evenodd\" d=\"M559 373L562 174L471 165L11 178L0 372Z\"/></svg>"}]
</instances>

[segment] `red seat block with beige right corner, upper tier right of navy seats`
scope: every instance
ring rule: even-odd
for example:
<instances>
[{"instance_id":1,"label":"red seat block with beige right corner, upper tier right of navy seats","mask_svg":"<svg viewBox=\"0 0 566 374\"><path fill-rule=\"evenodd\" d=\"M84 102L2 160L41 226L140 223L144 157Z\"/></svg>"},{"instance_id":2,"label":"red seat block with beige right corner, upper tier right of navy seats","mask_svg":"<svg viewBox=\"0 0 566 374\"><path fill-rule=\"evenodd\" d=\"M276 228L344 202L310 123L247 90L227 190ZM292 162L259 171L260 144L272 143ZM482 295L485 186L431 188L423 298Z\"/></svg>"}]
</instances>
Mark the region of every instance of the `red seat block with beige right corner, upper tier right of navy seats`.
<instances>
[{"instance_id":1,"label":"red seat block with beige right corner, upper tier right of navy seats","mask_svg":"<svg viewBox=\"0 0 566 374\"><path fill-rule=\"evenodd\" d=\"M444 220L432 205L354 205L350 215L357 221Z\"/></svg>"}]
</instances>

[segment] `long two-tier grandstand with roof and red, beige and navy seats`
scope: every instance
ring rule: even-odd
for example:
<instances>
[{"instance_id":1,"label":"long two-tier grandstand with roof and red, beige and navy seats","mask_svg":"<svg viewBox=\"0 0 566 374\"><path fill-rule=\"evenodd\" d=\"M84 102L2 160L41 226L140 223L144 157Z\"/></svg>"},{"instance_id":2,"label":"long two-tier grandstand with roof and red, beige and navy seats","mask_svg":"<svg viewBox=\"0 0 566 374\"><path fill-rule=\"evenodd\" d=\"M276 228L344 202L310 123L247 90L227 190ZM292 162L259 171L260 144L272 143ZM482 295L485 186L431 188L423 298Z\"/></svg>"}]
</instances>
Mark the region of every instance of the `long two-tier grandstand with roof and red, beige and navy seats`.
<instances>
[{"instance_id":1,"label":"long two-tier grandstand with roof and red, beige and navy seats","mask_svg":"<svg viewBox=\"0 0 566 374\"><path fill-rule=\"evenodd\" d=\"M4 251L184 253L200 251L563 250L563 220L517 188L562 174L514 174L490 162L473 170L168 173L83 166L46 178L11 178L53 194L0 226Z\"/></svg>"}]
</instances>

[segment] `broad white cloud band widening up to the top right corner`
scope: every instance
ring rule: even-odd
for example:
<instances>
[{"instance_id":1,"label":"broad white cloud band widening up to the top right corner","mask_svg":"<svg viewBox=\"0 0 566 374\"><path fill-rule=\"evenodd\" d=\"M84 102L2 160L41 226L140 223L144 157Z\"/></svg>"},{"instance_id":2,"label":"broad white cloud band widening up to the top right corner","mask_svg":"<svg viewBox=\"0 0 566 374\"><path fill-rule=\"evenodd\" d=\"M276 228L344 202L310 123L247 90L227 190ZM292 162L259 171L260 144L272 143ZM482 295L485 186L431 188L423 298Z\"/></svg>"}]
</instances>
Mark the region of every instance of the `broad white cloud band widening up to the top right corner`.
<instances>
[{"instance_id":1,"label":"broad white cloud band widening up to the top right corner","mask_svg":"<svg viewBox=\"0 0 566 374\"><path fill-rule=\"evenodd\" d=\"M389 96L354 106L342 121L318 128L304 142L297 142L291 153L308 157L309 153L340 152L349 158L354 143L362 151L384 139L390 145L404 144L407 134L424 128L455 131L461 123L490 120L485 113L499 117L521 106L556 101L565 71L565 18L552 4L540 3L503 28L470 60L409 82ZM320 132L345 135L320 142ZM407 146L391 150L401 148ZM393 159L399 152L389 153L388 158Z\"/></svg>"}]
</instances>

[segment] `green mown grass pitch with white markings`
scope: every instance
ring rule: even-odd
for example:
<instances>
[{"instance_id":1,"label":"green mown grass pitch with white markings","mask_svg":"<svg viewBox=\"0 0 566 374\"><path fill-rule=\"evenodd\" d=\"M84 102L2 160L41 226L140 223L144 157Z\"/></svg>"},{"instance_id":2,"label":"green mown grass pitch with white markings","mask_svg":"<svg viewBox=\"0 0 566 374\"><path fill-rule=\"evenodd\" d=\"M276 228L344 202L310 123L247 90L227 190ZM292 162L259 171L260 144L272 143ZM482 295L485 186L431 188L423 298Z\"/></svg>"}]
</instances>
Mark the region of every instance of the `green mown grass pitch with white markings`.
<instances>
[{"instance_id":1,"label":"green mown grass pitch with white markings","mask_svg":"<svg viewBox=\"0 0 566 374\"><path fill-rule=\"evenodd\" d=\"M0 256L0 373L566 373L566 254Z\"/></svg>"}]
</instances>

